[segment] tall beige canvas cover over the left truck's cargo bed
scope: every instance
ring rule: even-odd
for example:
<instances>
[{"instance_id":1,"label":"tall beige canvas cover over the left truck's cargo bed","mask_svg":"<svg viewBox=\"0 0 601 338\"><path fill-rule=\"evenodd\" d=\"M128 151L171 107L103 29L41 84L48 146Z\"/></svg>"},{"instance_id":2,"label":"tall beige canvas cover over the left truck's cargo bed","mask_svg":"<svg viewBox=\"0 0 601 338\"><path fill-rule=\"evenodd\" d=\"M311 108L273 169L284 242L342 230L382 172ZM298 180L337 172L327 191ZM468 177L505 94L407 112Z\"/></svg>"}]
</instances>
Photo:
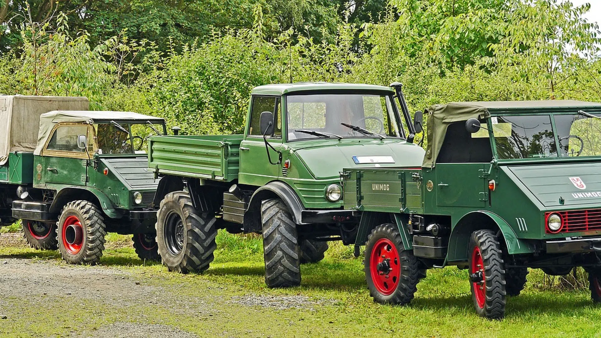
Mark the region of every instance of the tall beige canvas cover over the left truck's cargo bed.
<instances>
[{"instance_id":1,"label":"tall beige canvas cover over the left truck's cargo bed","mask_svg":"<svg viewBox=\"0 0 601 338\"><path fill-rule=\"evenodd\" d=\"M11 152L33 152L40 115L56 109L87 110L85 97L0 95L0 165Z\"/></svg>"}]
</instances>

